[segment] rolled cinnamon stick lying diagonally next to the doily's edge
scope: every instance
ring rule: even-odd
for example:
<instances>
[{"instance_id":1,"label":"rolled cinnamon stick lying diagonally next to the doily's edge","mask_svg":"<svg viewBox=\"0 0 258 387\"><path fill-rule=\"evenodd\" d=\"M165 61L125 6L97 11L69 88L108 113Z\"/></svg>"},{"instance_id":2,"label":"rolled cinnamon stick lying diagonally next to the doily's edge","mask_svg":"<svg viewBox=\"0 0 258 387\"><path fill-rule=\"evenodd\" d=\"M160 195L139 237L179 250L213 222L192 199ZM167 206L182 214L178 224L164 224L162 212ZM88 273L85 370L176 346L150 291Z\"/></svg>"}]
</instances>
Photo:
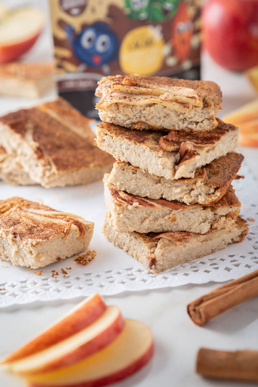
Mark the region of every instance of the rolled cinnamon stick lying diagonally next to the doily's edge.
<instances>
[{"instance_id":1,"label":"rolled cinnamon stick lying diagonally next to the doily's edge","mask_svg":"<svg viewBox=\"0 0 258 387\"><path fill-rule=\"evenodd\" d=\"M233 306L258 296L258 270L243 275L204 294L187 305L187 313L197 325L208 323Z\"/></svg>"}]
</instances>

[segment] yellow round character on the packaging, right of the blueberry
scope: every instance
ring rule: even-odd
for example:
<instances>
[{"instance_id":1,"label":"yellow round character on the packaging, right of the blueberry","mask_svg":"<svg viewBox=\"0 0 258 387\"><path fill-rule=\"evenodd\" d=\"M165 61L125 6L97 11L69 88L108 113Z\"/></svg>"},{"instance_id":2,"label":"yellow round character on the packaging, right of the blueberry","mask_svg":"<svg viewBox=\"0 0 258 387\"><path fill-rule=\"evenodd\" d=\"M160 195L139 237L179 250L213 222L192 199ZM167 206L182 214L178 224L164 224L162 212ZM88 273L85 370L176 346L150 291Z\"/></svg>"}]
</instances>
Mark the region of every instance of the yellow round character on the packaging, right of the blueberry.
<instances>
[{"instance_id":1,"label":"yellow round character on the packaging, right of the blueberry","mask_svg":"<svg viewBox=\"0 0 258 387\"><path fill-rule=\"evenodd\" d=\"M151 75L164 61L161 27L144 26L129 31L121 42L119 64L125 74Z\"/></svg>"}]
</instances>

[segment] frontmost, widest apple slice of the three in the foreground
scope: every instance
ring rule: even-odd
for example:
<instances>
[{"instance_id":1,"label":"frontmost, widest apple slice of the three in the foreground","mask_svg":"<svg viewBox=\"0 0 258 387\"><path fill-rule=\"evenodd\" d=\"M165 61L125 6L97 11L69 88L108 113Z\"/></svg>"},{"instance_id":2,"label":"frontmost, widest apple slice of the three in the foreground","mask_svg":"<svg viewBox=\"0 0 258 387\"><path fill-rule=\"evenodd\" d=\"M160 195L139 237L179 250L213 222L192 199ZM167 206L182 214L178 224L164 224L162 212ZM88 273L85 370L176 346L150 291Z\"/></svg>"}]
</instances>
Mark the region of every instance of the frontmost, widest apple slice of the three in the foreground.
<instances>
[{"instance_id":1,"label":"frontmost, widest apple slice of the three in the foreground","mask_svg":"<svg viewBox=\"0 0 258 387\"><path fill-rule=\"evenodd\" d=\"M100 387L142 368L152 358L153 339L147 325L125 320L121 334L96 354L59 371L32 376L28 387Z\"/></svg>"}]
</instances>

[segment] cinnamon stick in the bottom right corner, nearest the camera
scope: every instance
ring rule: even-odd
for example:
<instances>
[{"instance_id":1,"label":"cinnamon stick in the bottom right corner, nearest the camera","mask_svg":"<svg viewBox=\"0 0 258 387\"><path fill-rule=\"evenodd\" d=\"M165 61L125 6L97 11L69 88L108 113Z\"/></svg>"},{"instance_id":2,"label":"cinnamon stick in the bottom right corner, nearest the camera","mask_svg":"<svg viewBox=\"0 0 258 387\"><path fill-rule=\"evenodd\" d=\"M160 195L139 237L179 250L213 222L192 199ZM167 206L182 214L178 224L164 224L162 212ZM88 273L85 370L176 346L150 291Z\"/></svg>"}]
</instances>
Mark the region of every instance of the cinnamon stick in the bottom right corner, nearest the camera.
<instances>
[{"instance_id":1,"label":"cinnamon stick in the bottom right corner, nearest the camera","mask_svg":"<svg viewBox=\"0 0 258 387\"><path fill-rule=\"evenodd\" d=\"M258 351L216 351L200 348L197 373L217 379L258 382Z\"/></svg>"}]
</instances>

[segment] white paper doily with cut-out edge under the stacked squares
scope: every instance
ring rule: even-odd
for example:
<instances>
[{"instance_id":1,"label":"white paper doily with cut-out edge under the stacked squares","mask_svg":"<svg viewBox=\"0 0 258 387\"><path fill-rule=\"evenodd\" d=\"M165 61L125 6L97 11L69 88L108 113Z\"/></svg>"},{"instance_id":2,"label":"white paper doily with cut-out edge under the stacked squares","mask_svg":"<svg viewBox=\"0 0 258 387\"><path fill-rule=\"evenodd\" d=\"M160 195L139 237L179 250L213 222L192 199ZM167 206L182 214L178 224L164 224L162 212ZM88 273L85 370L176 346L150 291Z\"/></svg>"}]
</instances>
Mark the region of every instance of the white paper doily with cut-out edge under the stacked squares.
<instances>
[{"instance_id":1,"label":"white paper doily with cut-out edge under the stacked squares","mask_svg":"<svg viewBox=\"0 0 258 387\"><path fill-rule=\"evenodd\" d=\"M0 183L1 199L21 196L41 200L55 208L80 214L95 223L91 250L97 256L88 265L74 257L41 269L29 270L0 261L0 307L84 297L99 292L114 295L125 291L160 289L186 284L223 282L258 269L258 183L243 165L244 179L233 182L241 203L241 216L250 232L241 243L196 259L157 275L106 241L101 229L106 210L101 181L86 186L46 190L42 187L12 187ZM38 273L38 274L37 274Z\"/></svg>"}]
</instances>

